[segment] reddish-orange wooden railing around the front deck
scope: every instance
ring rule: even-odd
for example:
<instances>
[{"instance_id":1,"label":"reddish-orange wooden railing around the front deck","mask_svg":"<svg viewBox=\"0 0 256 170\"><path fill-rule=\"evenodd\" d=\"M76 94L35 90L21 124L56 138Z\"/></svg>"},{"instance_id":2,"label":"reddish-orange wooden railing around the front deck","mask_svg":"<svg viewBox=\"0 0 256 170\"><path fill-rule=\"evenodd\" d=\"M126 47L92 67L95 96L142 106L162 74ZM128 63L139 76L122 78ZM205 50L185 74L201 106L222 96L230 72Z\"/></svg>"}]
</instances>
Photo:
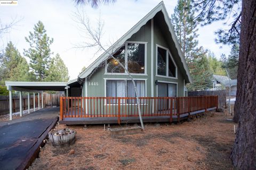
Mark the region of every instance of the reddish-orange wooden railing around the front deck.
<instances>
[{"instance_id":1,"label":"reddish-orange wooden railing around the front deck","mask_svg":"<svg viewBox=\"0 0 256 170\"><path fill-rule=\"evenodd\" d=\"M66 117L121 117L139 116L135 97L60 97L60 120ZM140 97L141 115L170 116L218 108L218 96L196 97Z\"/></svg>"}]
</instances>

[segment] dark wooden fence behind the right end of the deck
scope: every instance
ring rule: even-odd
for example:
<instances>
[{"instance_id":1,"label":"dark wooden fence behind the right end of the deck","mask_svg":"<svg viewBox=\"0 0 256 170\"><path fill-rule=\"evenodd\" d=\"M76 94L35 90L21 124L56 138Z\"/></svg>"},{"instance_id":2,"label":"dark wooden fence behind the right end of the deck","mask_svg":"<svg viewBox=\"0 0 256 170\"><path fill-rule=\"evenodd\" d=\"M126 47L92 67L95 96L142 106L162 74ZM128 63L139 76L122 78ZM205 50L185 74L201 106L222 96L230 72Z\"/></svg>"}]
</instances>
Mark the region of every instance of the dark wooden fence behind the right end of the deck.
<instances>
[{"instance_id":1,"label":"dark wooden fence behind the right end of the deck","mask_svg":"<svg viewBox=\"0 0 256 170\"><path fill-rule=\"evenodd\" d=\"M189 91L188 96L218 96L218 109L223 110L226 105L226 90Z\"/></svg>"}]
</instances>

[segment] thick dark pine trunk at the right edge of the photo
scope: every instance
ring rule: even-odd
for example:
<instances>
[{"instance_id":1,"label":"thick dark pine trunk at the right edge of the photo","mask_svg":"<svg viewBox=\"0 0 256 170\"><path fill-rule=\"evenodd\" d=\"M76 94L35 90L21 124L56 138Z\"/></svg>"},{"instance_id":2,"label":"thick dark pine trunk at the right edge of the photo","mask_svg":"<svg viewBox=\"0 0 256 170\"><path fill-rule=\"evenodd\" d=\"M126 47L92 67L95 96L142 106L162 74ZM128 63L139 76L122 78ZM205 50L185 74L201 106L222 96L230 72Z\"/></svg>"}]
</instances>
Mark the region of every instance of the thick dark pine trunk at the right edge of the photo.
<instances>
[{"instance_id":1,"label":"thick dark pine trunk at the right edge of the photo","mask_svg":"<svg viewBox=\"0 0 256 170\"><path fill-rule=\"evenodd\" d=\"M256 169L256 1L243 0L235 117L238 131L231 159Z\"/></svg>"}]
</instances>

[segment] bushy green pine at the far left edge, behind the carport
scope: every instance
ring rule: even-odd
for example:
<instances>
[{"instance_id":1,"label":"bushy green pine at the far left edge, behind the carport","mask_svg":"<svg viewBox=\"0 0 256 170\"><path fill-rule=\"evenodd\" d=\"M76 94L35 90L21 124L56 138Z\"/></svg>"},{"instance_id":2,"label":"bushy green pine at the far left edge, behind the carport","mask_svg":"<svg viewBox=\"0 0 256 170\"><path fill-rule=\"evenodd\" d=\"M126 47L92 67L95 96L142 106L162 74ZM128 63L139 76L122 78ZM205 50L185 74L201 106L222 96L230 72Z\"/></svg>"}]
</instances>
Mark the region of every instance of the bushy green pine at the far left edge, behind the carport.
<instances>
[{"instance_id":1,"label":"bushy green pine at the far left edge, behind the carport","mask_svg":"<svg viewBox=\"0 0 256 170\"><path fill-rule=\"evenodd\" d=\"M12 42L7 44L1 61L2 84L4 81L27 81L29 65Z\"/></svg>"}]
</instances>

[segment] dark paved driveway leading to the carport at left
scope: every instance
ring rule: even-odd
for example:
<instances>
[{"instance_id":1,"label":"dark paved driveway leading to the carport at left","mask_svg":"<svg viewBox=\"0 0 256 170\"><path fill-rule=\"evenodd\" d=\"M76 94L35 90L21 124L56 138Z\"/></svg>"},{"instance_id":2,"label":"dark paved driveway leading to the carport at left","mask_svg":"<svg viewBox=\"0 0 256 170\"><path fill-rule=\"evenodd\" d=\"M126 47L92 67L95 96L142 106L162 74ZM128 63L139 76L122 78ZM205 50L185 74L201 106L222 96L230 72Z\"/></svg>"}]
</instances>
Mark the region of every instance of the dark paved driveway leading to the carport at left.
<instances>
[{"instance_id":1,"label":"dark paved driveway leading to the carport at left","mask_svg":"<svg viewBox=\"0 0 256 170\"><path fill-rule=\"evenodd\" d=\"M0 169L27 168L58 121L58 115L59 107L44 108L13 121L1 122Z\"/></svg>"}]
</instances>

